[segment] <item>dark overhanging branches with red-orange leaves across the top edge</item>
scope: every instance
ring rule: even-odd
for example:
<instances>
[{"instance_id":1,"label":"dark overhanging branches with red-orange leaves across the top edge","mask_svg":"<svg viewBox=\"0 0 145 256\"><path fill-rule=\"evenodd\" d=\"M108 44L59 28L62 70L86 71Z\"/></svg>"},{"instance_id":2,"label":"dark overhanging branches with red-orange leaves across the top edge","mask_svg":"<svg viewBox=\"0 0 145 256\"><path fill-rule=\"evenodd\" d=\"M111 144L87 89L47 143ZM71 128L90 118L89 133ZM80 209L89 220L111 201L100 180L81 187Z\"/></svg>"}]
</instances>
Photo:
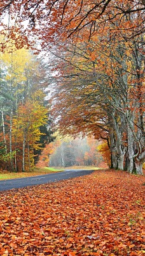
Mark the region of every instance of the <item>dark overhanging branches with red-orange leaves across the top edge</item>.
<instances>
[{"instance_id":1,"label":"dark overhanging branches with red-orange leaves across the top edge","mask_svg":"<svg viewBox=\"0 0 145 256\"><path fill-rule=\"evenodd\" d=\"M1 1L0 22L6 29L5 40L15 38L17 47L28 44L27 38L32 36L42 47L48 47L48 41L55 42L60 36L66 39L79 35L79 40L84 40L102 30L111 36L121 33L132 38L144 32L144 10L144 0L11 0Z\"/></svg>"}]
</instances>

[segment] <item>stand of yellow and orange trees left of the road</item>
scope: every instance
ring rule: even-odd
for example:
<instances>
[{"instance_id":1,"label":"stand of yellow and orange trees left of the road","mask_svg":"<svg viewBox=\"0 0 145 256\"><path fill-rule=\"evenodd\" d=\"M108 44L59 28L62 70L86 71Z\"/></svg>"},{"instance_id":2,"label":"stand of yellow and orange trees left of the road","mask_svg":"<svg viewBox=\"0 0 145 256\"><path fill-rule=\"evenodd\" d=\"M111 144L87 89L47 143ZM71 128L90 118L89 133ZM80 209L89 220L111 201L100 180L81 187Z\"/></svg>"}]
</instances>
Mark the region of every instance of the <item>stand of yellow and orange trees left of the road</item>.
<instances>
[{"instance_id":1,"label":"stand of yellow and orange trees left of the road","mask_svg":"<svg viewBox=\"0 0 145 256\"><path fill-rule=\"evenodd\" d=\"M10 52L1 54L0 61L1 168L31 171L41 147L51 136L44 93L46 70L31 51L17 50L14 44Z\"/></svg>"}]
</instances>

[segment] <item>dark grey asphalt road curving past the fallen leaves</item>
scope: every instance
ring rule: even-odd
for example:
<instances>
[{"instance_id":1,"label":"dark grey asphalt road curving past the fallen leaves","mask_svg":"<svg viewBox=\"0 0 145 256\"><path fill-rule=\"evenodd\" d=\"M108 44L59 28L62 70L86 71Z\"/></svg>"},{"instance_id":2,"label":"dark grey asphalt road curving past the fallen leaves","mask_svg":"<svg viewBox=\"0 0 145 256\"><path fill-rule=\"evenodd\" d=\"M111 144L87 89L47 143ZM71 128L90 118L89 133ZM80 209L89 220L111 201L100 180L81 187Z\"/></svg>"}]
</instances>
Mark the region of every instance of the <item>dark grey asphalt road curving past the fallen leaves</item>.
<instances>
[{"instance_id":1,"label":"dark grey asphalt road curving past the fallen leaves","mask_svg":"<svg viewBox=\"0 0 145 256\"><path fill-rule=\"evenodd\" d=\"M20 179L0 180L0 191L10 190L14 188L25 188L39 184L46 184L59 180L67 180L92 173L93 170L66 170L64 172L50 173Z\"/></svg>"}]
</instances>

